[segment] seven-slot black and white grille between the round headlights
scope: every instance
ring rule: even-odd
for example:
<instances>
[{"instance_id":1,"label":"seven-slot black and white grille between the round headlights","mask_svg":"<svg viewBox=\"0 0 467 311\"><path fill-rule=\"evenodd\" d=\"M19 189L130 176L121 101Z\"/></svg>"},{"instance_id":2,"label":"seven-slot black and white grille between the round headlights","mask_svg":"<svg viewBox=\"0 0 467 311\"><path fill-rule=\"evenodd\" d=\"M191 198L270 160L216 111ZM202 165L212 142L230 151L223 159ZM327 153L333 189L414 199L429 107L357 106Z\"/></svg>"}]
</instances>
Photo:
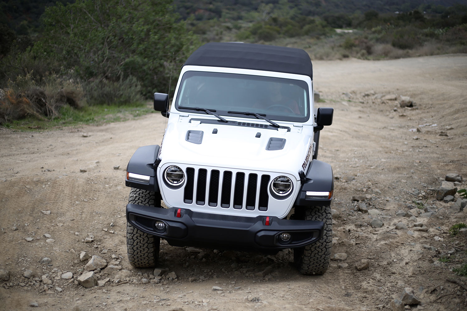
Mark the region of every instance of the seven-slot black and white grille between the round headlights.
<instances>
[{"instance_id":1,"label":"seven-slot black and white grille between the round headlights","mask_svg":"<svg viewBox=\"0 0 467 311\"><path fill-rule=\"evenodd\" d=\"M207 204L211 207L267 211L270 179L269 175L258 176L255 173L246 175L242 172L232 173L231 171L221 172L219 170L207 171L204 168L198 169L197 174L195 174L195 169L188 167L186 169L184 202L193 203L195 196L197 205ZM194 190L195 184L196 191Z\"/></svg>"}]
</instances>

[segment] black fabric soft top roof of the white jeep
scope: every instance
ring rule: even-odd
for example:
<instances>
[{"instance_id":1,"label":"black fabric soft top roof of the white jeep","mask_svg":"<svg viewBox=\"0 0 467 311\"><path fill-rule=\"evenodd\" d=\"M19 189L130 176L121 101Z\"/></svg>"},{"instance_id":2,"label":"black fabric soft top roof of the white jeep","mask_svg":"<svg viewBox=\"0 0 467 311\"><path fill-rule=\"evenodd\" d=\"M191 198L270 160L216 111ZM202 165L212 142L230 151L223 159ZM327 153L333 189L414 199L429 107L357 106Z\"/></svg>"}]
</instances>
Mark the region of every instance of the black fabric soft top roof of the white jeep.
<instances>
[{"instance_id":1,"label":"black fabric soft top roof of the white jeep","mask_svg":"<svg viewBox=\"0 0 467 311\"><path fill-rule=\"evenodd\" d=\"M255 69L309 76L310 56L300 48L241 42L210 42L198 48L184 65Z\"/></svg>"}]
</instances>

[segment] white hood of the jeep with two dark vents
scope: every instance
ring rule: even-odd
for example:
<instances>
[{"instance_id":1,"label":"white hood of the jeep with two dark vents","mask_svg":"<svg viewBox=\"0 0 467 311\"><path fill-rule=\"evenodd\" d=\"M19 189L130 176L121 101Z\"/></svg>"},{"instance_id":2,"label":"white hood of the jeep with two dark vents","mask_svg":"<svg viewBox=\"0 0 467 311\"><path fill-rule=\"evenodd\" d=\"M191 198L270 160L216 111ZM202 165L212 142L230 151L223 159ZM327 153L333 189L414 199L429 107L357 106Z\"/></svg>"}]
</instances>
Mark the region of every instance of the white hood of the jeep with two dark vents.
<instances>
[{"instance_id":1,"label":"white hood of the jeep with two dark vents","mask_svg":"<svg viewBox=\"0 0 467 311\"><path fill-rule=\"evenodd\" d=\"M290 127L290 131L286 131L220 122L219 124L190 122L192 118L217 120L211 116L198 114L190 117L172 115L159 155L162 159L161 166L167 162L187 163L188 161L192 165L288 173L299 179L298 171L303 170L302 164L311 143L311 136L304 135L302 127L279 123ZM264 120L249 118L235 118L235 120L269 124ZM213 133L214 129L217 129L217 133ZM202 131L201 143L187 141L188 131ZM261 133L261 137L256 137L257 133ZM285 139L283 149L266 150L269 138Z\"/></svg>"}]
</instances>

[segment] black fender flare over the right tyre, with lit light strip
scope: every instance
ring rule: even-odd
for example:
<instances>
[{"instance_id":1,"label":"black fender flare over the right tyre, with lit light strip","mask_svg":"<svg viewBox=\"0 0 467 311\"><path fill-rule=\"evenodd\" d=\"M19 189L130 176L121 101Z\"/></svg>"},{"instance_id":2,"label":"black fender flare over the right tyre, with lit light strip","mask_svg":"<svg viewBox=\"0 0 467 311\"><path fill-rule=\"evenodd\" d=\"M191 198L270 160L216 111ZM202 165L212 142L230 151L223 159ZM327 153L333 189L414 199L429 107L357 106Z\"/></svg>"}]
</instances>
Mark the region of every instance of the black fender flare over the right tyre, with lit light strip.
<instances>
[{"instance_id":1,"label":"black fender flare over the right tyre, with lit light strip","mask_svg":"<svg viewBox=\"0 0 467 311\"><path fill-rule=\"evenodd\" d=\"M305 180L302 182L300 191L295 200L297 206L329 206L333 200L334 190L334 175L333 168L330 164L311 160L310 167L306 173ZM327 192L330 193L330 198L306 198L306 192Z\"/></svg>"}]
</instances>

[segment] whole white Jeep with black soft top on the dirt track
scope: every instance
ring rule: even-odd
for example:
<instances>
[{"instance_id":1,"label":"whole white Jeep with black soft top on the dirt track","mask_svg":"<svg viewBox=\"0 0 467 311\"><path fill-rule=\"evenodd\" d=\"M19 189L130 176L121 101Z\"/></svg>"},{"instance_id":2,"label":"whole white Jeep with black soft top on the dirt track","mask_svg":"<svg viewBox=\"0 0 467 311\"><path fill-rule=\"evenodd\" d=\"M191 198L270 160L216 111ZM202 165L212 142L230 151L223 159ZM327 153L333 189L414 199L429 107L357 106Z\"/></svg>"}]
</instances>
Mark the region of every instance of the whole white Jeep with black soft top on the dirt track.
<instances>
[{"instance_id":1,"label":"whole white Jeep with black soft top on the dirt track","mask_svg":"<svg viewBox=\"0 0 467 311\"><path fill-rule=\"evenodd\" d=\"M130 263L174 246L293 249L303 274L323 274L332 244L333 171L318 161L332 108L314 109L308 54L241 42L207 43L185 62L161 146L127 166ZM168 208L161 208L161 200Z\"/></svg>"}]
</instances>

